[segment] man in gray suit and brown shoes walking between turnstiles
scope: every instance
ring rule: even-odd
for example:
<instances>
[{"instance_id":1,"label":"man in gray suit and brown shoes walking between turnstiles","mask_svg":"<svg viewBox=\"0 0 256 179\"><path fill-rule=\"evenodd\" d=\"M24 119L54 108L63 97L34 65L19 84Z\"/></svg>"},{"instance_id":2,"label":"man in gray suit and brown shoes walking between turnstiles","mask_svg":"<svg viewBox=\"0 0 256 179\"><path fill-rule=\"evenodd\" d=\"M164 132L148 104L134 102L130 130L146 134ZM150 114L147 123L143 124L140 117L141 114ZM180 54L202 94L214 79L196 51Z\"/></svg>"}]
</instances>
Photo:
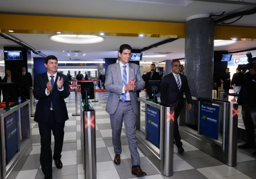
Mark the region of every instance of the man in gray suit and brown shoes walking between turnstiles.
<instances>
[{"instance_id":1,"label":"man in gray suit and brown shoes walking between turnstiles","mask_svg":"<svg viewBox=\"0 0 256 179\"><path fill-rule=\"evenodd\" d=\"M107 68L105 87L109 91L106 111L110 114L112 128L112 142L115 151L115 165L119 165L121 147L121 131L124 119L126 136L132 159L132 174L144 176L140 167L140 155L137 150L136 116L139 114L137 104L137 90L144 87L145 82L137 64L129 63L132 47L123 44L119 48L120 61Z\"/></svg>"}]
</instances>

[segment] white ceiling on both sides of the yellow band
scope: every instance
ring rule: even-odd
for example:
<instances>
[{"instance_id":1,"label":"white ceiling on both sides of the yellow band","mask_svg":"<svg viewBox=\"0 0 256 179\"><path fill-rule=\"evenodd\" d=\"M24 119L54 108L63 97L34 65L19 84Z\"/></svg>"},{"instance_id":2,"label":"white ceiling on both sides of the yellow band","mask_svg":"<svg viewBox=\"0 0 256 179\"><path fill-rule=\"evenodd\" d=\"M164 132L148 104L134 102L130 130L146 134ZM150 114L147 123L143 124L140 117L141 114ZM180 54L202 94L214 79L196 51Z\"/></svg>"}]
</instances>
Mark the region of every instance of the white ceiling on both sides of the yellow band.
<instances>
[{"instance_id":1,"label":"white ceiling on both sides of the yellow band","mask_svg":"<svg viewBox=\"0 0 256 179\"><path fill-rule=\"evenodd\" d=\"M220 14L224 15L256 6L255 0L4 0L1 3L0 13L29 14L62 17L95 17L107 19L127 19L143 21L168 21L185 22L187 17L196 14ZM205 2L203 2L205 1ZM229 3L229 4L228 4ZM237 4L232 4L237 3ZM243 4L243 3L254 3ZM15 4L15 5L14 5ZM230 20L232 21L232 20ZM37 23L37 22L35 22ZM232 26L256 27L256 14L244 16ZM124 27L125 28L125 27ZM134 49L148 47L154 43L161 42L167 38L146 37L111 37L106 36L102 43L94 44L66 44L50 40L48 34L10 34L27 45L42 51L45 55L56 55L59 60L81 59L87 61L102 61L103 58L116 58L119 46L128 43ZM3 47L17 46L5 39L0 38L0 60L3 59ZM216 47L215 50L236 51L256 47L256 42L240 41L229 46ZM143 61L163 61L166 59L178 59L185 56L185 39L178 39L148 51L146 55L155 52L172 52L164 58L143 58ZM67 56L62 51L83 51L76 56ZM85 57L82 54L88 54ZM246 52L245 52L246 53ZM245 56L245 53L239 53ZM71 53L72 54L72 53ZM256 55L256 51L252 51ZM38 57L38 55L32 55ZM236 56L238 57L238 56Z\"/></svg>"}]
</instances>

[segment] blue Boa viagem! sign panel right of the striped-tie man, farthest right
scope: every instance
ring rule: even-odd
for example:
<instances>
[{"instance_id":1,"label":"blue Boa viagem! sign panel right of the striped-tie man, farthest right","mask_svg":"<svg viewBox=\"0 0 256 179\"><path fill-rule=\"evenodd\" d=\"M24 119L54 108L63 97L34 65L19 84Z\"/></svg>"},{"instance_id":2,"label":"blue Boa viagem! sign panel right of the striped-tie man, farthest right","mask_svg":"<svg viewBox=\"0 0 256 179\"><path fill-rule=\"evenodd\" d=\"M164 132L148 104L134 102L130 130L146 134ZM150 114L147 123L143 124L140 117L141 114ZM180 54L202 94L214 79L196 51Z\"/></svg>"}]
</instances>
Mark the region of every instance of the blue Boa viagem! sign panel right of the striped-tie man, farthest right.
<instances>
[{"instance_id":1,"label":"blue Boa viagem! sign panel right of the striped-tie man, farthest right","mask_svg":"<svg viewBox=\"0 0 256 179\"><path fill-rule=\"evenodd\" d=\"M200 102L199 134L218 140L220 107Z\"/></svg>"}]
</instances>

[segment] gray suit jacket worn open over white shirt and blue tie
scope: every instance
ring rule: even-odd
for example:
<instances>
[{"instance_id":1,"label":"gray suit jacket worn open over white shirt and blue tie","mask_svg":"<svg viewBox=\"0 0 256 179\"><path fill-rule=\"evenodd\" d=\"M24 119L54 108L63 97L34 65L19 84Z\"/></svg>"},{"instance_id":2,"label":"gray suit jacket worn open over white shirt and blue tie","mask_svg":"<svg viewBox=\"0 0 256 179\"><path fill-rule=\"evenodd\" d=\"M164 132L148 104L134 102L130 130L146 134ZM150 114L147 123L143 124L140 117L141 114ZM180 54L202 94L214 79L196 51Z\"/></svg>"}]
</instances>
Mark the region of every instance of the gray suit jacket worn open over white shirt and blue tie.
<instances>
[{"instance_id":1,"label":"gray suit jacket worn open over white shirt and blue tie","mask_svg":"<svg viewBox=\"0 0 256 179\"><path fill-rule=\"evenodd\" d=\"M139 114L138 111L138 103L137 103L137 90L141 90L145 81L143 81L141 77L140 68L137 64L129 63L129 80L133 78L136 80L136 85L134 91L129 91L132 109L136 115ZM113 115L118 107L119 99L122 94L123 85L122 85L122 77L121 77L121 69L120 64L110 64L107 68L106 72L106 81L105 81L106 91L109 91L109 97L106 105L106 112L110 115Z\"/></svg>"}]
</instances>

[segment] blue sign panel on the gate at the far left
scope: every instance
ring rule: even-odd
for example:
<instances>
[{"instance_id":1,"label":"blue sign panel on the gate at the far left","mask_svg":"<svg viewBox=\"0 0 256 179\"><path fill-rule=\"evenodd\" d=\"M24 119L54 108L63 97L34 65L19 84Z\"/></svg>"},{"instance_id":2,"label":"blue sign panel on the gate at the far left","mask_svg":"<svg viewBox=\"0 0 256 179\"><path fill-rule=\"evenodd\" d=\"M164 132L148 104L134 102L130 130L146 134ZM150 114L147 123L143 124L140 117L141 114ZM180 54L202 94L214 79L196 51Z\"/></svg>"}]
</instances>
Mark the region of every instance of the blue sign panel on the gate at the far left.
<instances>
[{"instance_id":1,"label":"blue sign panel on the gate at the far left","mask_svg":"<svg viewBox=\"0 0 256 179\"><path fill-rule=\"evenodd\" d=\"M17 114L7 116L5 119L5 140L7 163L13 158L18 151L18 130L17 130Z\"/></svg>"}]
</instances>

